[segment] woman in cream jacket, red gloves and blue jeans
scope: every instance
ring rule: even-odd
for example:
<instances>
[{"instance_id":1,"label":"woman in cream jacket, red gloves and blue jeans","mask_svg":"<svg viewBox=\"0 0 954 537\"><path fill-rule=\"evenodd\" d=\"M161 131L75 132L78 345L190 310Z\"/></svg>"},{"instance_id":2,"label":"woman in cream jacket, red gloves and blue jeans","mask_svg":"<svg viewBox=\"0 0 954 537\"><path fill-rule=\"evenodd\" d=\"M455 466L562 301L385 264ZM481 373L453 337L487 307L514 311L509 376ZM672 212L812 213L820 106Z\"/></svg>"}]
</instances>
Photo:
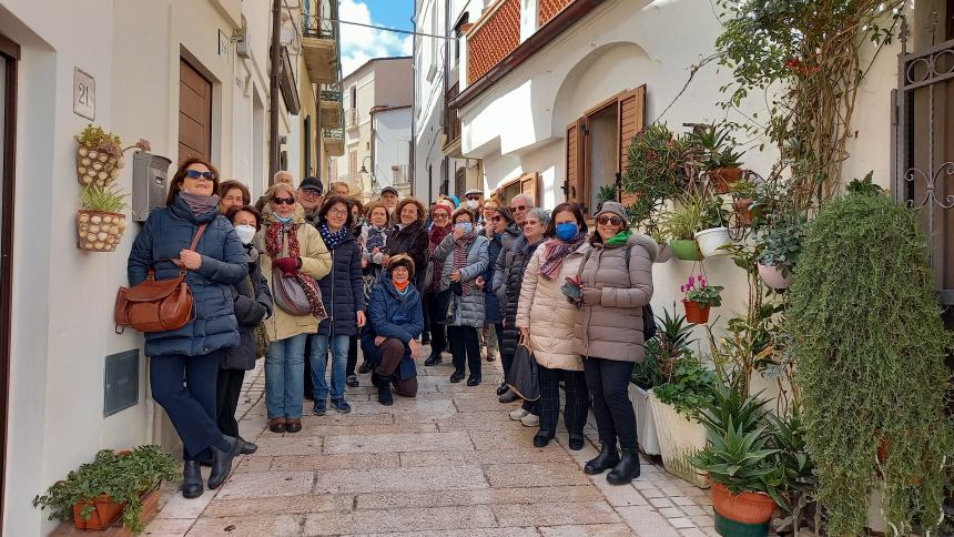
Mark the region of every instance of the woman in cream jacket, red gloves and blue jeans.
<instances>
[{"instance_id":1,"label":"woman in cream jacket, red gloves and blue jeans","mask_svg":"<svg viewBox=\"0 0 954 537\"><path fill-rule=\"evenodd\" d=\"M258 232L257 246L264 252L262 274L272 285L274 315L265 321L268 354L265 356L265 407L268 429L273 433L302 430L302 396L305 391L305 341L318 332L325 318L322 291L317 280L332 270L332 256L318 230L305 222L305 210L296 201L291 184L277 183L265 192L267 200ZM309 312L294 314L282 308L276 283L281 275L300 285L308 301Z\"/></svg>"}]
</instances>

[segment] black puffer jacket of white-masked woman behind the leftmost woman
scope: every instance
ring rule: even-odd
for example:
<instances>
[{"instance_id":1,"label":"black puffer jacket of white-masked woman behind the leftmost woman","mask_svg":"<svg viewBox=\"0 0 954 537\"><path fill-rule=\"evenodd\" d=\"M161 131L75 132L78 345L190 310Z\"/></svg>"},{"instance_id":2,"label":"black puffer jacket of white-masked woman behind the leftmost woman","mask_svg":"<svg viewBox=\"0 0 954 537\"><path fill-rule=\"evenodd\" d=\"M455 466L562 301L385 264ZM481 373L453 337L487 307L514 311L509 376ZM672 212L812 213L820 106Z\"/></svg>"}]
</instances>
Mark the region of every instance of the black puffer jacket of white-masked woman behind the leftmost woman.
<instances>
[{"instance_id":1,"label":"black puffer jacket of white-masked woman behind the leftmost woman","mask_svg":"<svg viewBox=\"0 0 954 537\"><path fill-rule=\"evenodd\" d=\"M255 368L258 343L255 327L272 315L272 292L268 281L262 275L258 250L245 245L248 257L248 277L232 285L232 300L235 303L235 320L238 321L238 346L225 349L220 367L223 369L251 371Z\"/></svg>"}]
</instances>

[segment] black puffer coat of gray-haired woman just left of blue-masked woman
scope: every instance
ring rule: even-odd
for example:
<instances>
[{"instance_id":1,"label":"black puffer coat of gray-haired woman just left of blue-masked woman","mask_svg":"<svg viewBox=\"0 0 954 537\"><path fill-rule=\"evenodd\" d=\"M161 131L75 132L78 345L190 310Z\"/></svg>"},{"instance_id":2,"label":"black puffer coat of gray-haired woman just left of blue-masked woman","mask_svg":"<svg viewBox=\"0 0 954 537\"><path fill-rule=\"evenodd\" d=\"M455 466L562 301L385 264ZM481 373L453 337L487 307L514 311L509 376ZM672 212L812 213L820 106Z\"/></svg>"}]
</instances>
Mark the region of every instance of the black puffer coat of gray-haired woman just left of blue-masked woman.
<instances>
[{"instance_id":1,"label":"black puffer coat of gray-haired woman just left of blue-masked woman","mask_svg":"<svg viewBox=\"0 0 954 537\"><path fill-rule=\"evenodd\" d=\"M542 242L542 241L541 241ZM497 270L494 274L494 292L500 301L500 313L504 318L504 341L500 353L512 355L517 352L520 330L517 328L517 302L520 300L520 285L530 257L537 251L537 244L528 244L525 235L518 236L506 245L497 257Z\"/></svg>"}]
</instances>

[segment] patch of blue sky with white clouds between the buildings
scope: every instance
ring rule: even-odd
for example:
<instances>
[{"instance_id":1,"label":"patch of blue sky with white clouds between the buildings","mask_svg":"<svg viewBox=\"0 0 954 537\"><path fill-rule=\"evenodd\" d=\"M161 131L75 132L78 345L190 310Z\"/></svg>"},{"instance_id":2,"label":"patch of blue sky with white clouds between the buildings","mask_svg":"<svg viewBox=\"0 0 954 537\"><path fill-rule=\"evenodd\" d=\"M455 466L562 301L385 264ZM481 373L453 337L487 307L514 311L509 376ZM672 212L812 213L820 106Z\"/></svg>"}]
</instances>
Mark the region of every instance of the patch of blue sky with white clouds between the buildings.
<instances>
[{"instance_id":1,"label":"patch of blue sky with white clouds between the buildings","mask_svg":"<svg viewBox=\"0 0 954 537\"><path fill-rule=\"evenodd\" d=\"M413 30L414 0L341 0L338 19ZM372 58L410 55L413 37L404 33L342 24L342 77Z\"/></svg>"}]
</instances>

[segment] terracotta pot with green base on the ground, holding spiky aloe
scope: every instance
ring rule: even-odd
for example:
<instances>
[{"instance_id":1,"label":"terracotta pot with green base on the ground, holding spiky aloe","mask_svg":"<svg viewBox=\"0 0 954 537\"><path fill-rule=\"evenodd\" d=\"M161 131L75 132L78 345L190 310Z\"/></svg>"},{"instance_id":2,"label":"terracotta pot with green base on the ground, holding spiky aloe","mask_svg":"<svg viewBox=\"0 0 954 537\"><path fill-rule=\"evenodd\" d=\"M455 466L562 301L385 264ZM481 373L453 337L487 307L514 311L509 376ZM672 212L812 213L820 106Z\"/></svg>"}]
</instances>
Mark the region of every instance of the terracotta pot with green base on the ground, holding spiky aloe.
<instances>
[{"instance_id":1,"label":"terracotta pot with green base on the ground, holding spiky aloe","mask_svg":"<svg viewBox=\"0 0 954 537\"><path fill-rule=\"evenodd\" d=\"M712 509L716 531L720 535L769 535L769 521L778 504L765 493L732 494L721 483L712 482Z\"/></svg>"}]
</instances>

